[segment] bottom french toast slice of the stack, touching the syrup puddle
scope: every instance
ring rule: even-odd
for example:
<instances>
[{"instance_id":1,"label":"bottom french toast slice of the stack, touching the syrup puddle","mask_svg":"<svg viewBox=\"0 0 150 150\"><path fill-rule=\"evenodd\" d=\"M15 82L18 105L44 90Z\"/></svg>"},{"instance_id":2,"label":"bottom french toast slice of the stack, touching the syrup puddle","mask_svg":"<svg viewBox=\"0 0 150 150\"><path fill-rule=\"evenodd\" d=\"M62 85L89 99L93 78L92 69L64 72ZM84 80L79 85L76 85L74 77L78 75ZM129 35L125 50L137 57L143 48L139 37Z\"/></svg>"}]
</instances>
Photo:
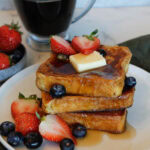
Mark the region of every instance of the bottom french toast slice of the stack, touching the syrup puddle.
<instances>
[{"instance_id":1,"label":"bottom french toast slice of the stack, touching the syrup puddle","mask_svg":"<svg viewBox=\"0 0 150 150\"><path fill-rule=\"evenodd\" d=\"M87 129L122 133L125 131L127 111L82 112L57 114L72 126L75 123L84 125Z\"/></svg>"}]
</instances>

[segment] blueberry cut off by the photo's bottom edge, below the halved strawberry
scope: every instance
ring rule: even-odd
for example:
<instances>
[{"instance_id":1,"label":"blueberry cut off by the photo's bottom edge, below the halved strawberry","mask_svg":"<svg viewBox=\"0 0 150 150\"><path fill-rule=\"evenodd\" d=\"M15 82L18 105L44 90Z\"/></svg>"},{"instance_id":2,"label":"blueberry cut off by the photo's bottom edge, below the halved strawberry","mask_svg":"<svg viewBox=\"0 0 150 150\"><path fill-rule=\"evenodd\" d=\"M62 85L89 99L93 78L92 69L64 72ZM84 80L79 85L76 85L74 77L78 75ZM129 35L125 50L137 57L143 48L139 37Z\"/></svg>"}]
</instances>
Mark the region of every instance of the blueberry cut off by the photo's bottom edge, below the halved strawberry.
<instances>
[{"instance_id":1,"label":"blueberry cut off by the photo's bottom edge, below the halved strawberry","mask_svg":"<svg viewBox=\"0 0 150 150\"><path fill-rule=\"evenodd\" d=\"M61 150L74 150L74 143L71 139L68 138L63 139L59 146Z\"/></svg>"}]
</instances>

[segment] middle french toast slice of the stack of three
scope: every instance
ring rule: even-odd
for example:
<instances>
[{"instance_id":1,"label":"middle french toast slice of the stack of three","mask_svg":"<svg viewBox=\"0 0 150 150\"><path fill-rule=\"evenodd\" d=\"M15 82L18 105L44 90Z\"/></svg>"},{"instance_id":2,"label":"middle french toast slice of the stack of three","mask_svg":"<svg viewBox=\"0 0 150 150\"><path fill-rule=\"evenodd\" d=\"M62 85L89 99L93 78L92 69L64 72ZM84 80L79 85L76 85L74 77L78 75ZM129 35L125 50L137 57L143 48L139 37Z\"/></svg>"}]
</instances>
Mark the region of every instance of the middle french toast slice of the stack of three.
<instances>
[{"instance_id":1,"label":"middle french toast slice of the stack of three","mask_svg":"<svg viewBox=\"0 0 150 150\"><path fill-rule=\"evenodd\" d=\"M64 96L52 99L49 93L42 91L42 105L46 113L57 114L80 111L110 111L132 106L134 88L124 90L119 97Z\"/></svg>"}]
</instances>

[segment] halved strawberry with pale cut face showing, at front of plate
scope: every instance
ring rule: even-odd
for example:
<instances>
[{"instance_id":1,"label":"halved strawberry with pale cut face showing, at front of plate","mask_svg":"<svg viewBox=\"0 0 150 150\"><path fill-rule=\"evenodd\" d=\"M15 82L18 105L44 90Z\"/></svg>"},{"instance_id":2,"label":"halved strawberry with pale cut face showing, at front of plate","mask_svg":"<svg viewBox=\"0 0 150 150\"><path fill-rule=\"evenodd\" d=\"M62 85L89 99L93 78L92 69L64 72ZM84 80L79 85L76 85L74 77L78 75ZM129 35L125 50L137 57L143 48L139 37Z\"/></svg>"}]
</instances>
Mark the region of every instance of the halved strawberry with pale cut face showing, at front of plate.
<instances>
[{"instance_id":1,"label":"halved strawberry with pale cut face showing, at front of plate","mask_svg":"<svg viewBox=\"0 0 150 150\"><path fill-rule=\"evenodd\" d=\"M64 120L57 115L48 115L42 119L39 132L48 141L60 142L64 138L70 138L76 144L70 128Z\"/></svg>"}]
</instances>

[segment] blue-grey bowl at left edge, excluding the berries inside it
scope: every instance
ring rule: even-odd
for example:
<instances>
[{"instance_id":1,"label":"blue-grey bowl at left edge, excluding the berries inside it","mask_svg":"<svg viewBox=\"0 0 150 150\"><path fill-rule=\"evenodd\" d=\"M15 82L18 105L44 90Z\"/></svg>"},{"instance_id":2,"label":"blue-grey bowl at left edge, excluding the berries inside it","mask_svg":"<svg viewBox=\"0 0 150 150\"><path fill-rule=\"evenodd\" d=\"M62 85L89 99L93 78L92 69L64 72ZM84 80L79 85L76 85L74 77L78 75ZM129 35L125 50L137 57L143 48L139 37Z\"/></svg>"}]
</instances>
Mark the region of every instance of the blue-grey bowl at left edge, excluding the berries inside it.
<instances>
[{"instance_id":1,"label":"blue-grey bowl at left edge, excluding the berries inside it","mask_svg":"<svg viewBox=\"0 0 150 150\"><path fill-rule=\"evenodd\" d=\"M25 49L25 47L24 47L24 49ZM11 76L15 75L17 72L21 71L25 67L26 56L27 56L27 52L25 49L24 56L22 57L22 59L18 63L16 63L15 65L13 65L9 68L0 70L0 82L7 80Z\"/></svg>"}]
</instances>

